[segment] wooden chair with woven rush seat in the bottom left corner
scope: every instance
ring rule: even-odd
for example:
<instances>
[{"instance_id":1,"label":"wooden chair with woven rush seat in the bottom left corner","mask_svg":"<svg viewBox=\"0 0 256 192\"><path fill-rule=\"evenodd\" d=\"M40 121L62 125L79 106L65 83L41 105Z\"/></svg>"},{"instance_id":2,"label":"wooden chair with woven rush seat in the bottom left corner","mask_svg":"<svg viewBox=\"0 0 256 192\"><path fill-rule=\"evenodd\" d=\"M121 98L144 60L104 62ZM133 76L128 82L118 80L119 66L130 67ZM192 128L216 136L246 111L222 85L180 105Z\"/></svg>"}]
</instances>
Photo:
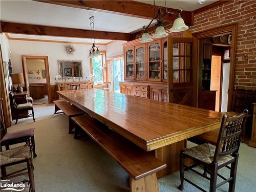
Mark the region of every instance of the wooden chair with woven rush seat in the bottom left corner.
<instances>
[{"instance_id":1,"label":"wooden chair with woven rush seat in the bottom left corner","mask_svg":"<svg viewBox=\"0 0 256 192\"><path fill-rule=\"evenodd\" d=\"M1 165L1 180L10 179L20 175L29 175L29 185L32 192L35 191L34 182L34 166L31 157L31 148L29 144L11 148L10 150L0 152L0 165ZM16 170L15 172L6 173L6 167L17 165L20 163L27 163L27 167ZM26 172L25 172L26 171ZM6 190L6 189L5 189ZM1 190L2 191L2 190Z\"/></svg>"}]
</instances>

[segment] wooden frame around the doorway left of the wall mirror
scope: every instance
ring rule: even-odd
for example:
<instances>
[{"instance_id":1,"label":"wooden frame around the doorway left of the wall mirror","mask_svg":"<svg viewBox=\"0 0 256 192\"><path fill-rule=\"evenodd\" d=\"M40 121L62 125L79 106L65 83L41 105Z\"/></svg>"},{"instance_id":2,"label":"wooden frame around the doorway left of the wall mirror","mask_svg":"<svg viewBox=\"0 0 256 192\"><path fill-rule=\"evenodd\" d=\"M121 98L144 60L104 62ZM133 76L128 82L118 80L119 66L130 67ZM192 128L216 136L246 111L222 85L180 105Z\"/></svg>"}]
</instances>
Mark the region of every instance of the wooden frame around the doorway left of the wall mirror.
<instances>
[{"instance_id":1,"label":"wooden frame around the doorway left of the wall mirror","mask_svg":"<svg viewBox=\"0 0 256 192\"><path fill-rule=\"evenodd\" d=\"M42 60L45 60L48 102L52 103L51 81L50 81L48 56L45 56L45 55L22 55L22 69L23 69L23 76L24 76L25 86L27 84L26 75L28 75L27 71L25 71L25 68L27 68L27 63L24 62L24 61L26 61L26 59L42 59ZM25 65L26 65L26 67L25 67ZM26 87L26 89L27 89L27 87Z\"/></svg>"}]
</instances>

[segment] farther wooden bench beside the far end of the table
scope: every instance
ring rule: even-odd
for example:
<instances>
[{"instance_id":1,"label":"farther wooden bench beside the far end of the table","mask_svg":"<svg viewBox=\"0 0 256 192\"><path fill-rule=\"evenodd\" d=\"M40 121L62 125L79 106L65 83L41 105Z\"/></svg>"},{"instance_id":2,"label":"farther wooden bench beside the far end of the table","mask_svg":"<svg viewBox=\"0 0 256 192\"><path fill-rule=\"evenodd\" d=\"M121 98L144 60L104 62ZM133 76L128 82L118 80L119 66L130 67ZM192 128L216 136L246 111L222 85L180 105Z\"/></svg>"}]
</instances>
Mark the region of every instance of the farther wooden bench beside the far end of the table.
<instances>
[{"instance_id":1,"label":"farther wooden bench beside the far end of the table","mask_svg":"<svg viewBox=\"0 0 256 192\"><path fill-rule=\"evenodd\" d=\"M58 113L64 113L69 117L69 134L74 133L72 130L74 129L74 122L71 119L71 117L75 117L78 115L83 115L84 112L82 110L80 110L79 108L77 108L76 106L74 106L73 104L70 104L69 102L67 102L66 100L56 100L53 101L55 104L55 108L54 108L54 114L58 114ZM58 112L61 110L62 112Z\"/></svg>"}]
</instances>

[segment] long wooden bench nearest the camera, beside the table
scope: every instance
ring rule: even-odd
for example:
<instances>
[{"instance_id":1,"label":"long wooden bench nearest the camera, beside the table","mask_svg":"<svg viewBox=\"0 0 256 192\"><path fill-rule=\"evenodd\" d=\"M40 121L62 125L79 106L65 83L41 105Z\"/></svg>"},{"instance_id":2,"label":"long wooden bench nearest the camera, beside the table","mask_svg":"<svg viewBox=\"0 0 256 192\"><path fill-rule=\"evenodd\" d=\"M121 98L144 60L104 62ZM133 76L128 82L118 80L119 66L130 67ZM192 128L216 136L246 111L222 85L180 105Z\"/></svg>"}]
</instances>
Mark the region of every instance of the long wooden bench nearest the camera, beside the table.
<instances>
[{"instance_id":1,"label":"long wooden bench nearest the camera, beside the table","mask_svg":"<svg viewBox=\"0 0 256 192\"><path fill-rule=\"evenodd\" d=\"M82 129L130 175L131 191L159 191L156 172L166 164L89 115L72 119L76 123L75 136Z\"/></svg>"}]
</instances>

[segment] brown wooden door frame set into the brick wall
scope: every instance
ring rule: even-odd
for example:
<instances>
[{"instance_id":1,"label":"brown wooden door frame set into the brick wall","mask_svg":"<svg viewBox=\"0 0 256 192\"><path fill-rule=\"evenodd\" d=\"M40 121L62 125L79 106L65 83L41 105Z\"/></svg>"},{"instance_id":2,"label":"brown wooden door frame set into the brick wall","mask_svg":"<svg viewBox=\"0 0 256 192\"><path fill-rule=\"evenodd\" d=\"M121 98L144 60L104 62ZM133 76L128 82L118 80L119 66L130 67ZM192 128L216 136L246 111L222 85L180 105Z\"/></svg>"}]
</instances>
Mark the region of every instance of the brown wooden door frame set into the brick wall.
<instances>
[{"instance_id":1,"label":"brown wooden door frame set into the brick wall","mask_svg":"<svg viewBox=\"0 0 256 192\"><path fill-rule=\"evenodd\" d=\"M228 106L227 111L232 110L232 92L234 88L234 74L236 69L236 53L237 53L237 35L238 35L238 24L234 23L231 25L219 26L211 29L207 29L204 31L192 33L192 35L198 39L198 41L202 38L208 38L216 35L222 35L225 33L232 33L232 42L230 46L230 71L229 71L229 83L228 83ZM199 52L198 52L198 63L199 60ZM199 73L199 72L198 72ZM199 88L198 88L199 89Z\"/></svg>"}]
</instances>

